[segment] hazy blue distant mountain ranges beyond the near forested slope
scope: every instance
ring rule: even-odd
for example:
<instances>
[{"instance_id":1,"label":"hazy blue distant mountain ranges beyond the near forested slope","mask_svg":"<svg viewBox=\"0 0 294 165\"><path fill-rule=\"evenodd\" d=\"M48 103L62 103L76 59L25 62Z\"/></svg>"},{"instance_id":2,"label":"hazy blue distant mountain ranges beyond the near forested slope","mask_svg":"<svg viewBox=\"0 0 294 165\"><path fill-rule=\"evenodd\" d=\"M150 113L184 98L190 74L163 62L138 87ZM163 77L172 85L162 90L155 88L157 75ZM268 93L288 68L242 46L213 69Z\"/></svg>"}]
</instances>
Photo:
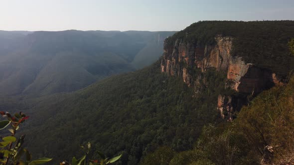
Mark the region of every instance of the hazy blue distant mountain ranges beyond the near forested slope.
<instances>
[{"instance_id":1,"label":"hazy blue distant mountain ranges beyond the near forested slope","mask_svg":"<svg viewBox=\"0 0 294 165\"><path fill-rule=\"evenodd\" d=\"M144 68L173 33L0 31L0 95L70 92Z\"/></svg>"}]
</instances>

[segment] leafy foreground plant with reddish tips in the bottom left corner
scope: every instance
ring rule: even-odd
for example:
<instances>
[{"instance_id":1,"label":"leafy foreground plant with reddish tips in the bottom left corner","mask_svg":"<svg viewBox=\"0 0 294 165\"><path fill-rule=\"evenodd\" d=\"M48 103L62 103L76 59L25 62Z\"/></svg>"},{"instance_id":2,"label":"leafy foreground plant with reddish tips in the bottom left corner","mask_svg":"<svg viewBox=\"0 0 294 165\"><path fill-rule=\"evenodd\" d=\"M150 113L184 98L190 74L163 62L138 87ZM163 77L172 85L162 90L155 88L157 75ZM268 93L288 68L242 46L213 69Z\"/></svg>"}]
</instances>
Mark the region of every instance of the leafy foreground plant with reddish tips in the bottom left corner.
<instances>
[{"instance_id":1,"label":"leafy foreground plant with reddish tips in the bottom left corner","mask_svg":"<svg viewBox=\"0 0 294 165\"><path fill-rule=\"evenodd\" d=\"M50 162L52 159L40 158L38 160L31 160L31 154L23 148L24 135L22 135L17 141L15 136L16 131L19 129L19 125L22 124L28 116L20 113L15 113L13 116L8 112L0 111L2 117L6 117L7 120L1 121L1 128L5 128L8 125L11 129L8 129L11 136L1 138L0 142L0 164L1 165L41 165ZM25 159L22 159L25 158Z\"/></svg>"}]
</instances>

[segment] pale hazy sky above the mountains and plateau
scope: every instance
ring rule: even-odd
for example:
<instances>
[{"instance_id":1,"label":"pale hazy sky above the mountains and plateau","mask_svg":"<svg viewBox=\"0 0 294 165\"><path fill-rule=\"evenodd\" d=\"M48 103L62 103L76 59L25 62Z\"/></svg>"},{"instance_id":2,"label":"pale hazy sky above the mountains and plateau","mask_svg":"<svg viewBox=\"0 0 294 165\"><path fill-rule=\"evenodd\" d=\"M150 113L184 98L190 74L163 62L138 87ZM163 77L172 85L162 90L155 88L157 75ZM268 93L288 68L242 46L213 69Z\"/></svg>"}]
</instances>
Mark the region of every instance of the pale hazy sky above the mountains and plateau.
<instances>
[{"instance_id":1,"label":"pale hazy sky above the mountains and plateau","mask_svg":"<svg viewBox=\"0 0 294 165\"><path fill-rule=\"evenodd\" d=\"M0 0L0 30L178 31L200 20L294 20L294 0Z\"/></svg>"}]
</instances>

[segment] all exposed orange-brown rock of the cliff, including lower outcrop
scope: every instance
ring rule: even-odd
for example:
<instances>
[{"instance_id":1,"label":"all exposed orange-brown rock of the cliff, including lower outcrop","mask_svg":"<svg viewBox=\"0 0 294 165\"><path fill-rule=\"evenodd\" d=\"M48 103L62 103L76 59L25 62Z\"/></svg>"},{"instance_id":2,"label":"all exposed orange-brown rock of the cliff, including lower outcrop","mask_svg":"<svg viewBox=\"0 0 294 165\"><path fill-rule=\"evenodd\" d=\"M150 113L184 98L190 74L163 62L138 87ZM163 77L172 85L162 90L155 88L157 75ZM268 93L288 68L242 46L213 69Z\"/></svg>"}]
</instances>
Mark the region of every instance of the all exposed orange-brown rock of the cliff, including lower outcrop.
<instances>
[{"instance_id":1,"label":"all exposed orange-brown rock of the cliff, including lower outcrop","mask_svg":"<svg viewBox=\"0 0 294 165\"><path fill-rule=\"evenodd\" d=\"M227 87L245 95L255 95L275 84L283 82L275 73L267 69L256 67L254 64L246 64L238 55L232 55L231 37L215 37L215 45L197 45L195 41L184 42L177 39L174 44L164 44L164 53L161 60L161 72L170 76L182 77L188 86L194 87L198 93L197 84L202 79L200 74L191 74L189 70L206 72L208 68L227 74ZM224 96L218 97L217 109L228 114L228 120L232 120L231 112L239 110L247 103L247 97ZM226 112L225 112L226 111Z\"/></svg>"}]
</instances>

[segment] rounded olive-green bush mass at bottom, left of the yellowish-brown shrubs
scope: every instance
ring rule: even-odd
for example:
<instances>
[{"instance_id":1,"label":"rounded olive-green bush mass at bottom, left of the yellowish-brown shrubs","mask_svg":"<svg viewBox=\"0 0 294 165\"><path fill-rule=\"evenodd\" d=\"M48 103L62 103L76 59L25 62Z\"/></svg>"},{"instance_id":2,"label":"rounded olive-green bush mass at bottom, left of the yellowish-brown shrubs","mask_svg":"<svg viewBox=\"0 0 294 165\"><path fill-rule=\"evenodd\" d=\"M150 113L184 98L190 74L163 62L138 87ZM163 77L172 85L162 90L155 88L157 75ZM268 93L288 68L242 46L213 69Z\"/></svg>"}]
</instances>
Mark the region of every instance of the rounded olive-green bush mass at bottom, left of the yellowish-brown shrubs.
<instances>
[{"instance_id":1,"label":"rounded olive-green bush mass at bottom, left of the yellowish-brown shrubs","mask_svg":"<svg viewBox=\"0 0 294 165\"><path fill-rule=\"evenodd\" d=\"M246 142L232 129L209 124L203 128L195 148L177 153L170 165L255 165L257 160Z\"/></svg>"}]
</instances>

